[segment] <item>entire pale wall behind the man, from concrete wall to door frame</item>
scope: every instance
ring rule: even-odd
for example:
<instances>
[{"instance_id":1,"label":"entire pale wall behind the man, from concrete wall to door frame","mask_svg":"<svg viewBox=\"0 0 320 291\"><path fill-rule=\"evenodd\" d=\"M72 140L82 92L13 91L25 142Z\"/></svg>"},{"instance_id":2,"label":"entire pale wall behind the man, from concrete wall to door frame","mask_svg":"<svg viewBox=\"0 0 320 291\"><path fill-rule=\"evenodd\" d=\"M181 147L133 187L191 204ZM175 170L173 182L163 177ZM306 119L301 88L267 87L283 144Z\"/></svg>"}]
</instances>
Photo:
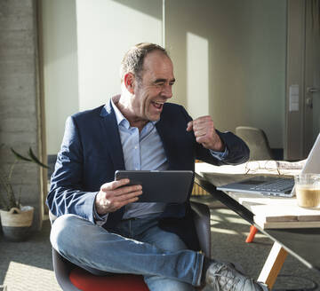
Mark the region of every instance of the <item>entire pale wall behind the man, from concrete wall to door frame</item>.
<instances>
[{"instance_id":1,"label":"entire pale wall behind the man, from concrete wall to door frame","mask_svg":"<svg viewBox=\"0 0 320 291\"><path fill-rule=\"evenodd\" d=\"M286 1L166 0L165 43L177 83L172 102L220 130L250 125L283 147ZM133 44L162 44L162 0L44 0L48 153L69 114L120 91ZM77 37L76 37L77 36Z\"/></svg>"}]
</instances>

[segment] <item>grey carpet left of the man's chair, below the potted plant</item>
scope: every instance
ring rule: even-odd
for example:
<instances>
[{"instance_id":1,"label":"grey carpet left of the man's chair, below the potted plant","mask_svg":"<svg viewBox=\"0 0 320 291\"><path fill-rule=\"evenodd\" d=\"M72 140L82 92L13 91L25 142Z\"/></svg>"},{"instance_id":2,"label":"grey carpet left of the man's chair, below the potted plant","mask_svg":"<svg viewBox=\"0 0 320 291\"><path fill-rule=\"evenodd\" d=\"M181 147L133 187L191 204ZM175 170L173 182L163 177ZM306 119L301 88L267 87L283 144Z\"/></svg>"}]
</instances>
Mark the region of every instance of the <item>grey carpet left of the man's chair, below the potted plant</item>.
<instances>
[{"instance_id":1,"label":"grey carpet left of the man's chair, below the potted plant","mask_svg":"<svg viewBox=\"0 0 320 291\"><path fill-rule=\"evenodd\" d=\"M6 291L61 290L52 271L50 228L44 221L42 231L24 242L8 242L0 234L0 286Z\"/></svg>"}]
</instances>

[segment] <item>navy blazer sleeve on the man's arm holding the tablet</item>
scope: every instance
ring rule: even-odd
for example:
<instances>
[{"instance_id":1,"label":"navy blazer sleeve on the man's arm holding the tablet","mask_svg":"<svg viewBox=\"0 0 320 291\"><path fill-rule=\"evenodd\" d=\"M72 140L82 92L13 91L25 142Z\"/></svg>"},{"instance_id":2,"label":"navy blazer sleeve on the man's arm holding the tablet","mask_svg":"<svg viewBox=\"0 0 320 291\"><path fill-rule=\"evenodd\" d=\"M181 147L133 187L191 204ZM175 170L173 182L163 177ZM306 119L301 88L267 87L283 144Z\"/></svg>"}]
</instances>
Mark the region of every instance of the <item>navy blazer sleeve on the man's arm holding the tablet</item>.
<instances>
[{"instance_id":1,"label":"navy blazer sleeve on the man's arm holding the tablet","mask_svg":"<svg viewBox=\"0 0 320 291\"><path fill-rule=\"evenodd\" d=\"M97 192L83 189L83 147L74 117L68 117L47 196L47 205L55 216L76 214L94 222L93 203Z\"/></svg>"}]
</instances>

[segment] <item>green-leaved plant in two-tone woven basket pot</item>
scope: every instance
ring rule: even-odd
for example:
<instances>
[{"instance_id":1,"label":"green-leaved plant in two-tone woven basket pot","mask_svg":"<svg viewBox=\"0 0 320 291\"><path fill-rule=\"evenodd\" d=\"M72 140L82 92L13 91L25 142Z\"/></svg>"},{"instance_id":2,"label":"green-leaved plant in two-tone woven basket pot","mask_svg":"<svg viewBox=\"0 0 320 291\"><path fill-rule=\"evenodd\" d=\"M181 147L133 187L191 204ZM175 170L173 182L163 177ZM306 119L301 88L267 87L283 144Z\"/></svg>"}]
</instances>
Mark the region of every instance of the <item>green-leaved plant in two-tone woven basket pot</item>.
<instances>
[{"instance_id":1,"label":"green-leaved plant in two-tone woven basket pot","mask_svg":"<svg viewBox=\"0 0 320 291\"><path fill-rule=\"evenodd\" d=\"M28 150L28 157L17 153L11 148L15 159L9 169L0 168L0 218L4 232L4 238L11 241L21 241L28 238L28 230L32 225L34 208L20 204L20 193L13 191L12 176L14 168L19 161L28 161L44 168L44 165L36 158L31 147ZM4 168L4 167L3 167Z\"/></svg>"}]
</instances>

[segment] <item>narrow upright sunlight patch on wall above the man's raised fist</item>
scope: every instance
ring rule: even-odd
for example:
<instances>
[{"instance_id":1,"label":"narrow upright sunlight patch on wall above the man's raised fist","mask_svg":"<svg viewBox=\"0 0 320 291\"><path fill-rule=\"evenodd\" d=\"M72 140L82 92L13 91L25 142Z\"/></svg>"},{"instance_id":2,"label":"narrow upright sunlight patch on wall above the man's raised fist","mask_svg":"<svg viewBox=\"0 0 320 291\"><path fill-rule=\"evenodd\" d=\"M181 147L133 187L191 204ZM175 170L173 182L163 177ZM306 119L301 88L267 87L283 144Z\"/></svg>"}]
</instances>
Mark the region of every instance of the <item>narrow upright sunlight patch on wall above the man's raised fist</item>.
<instances>
[{"instance_id":1,"label":"narrow upright sunlight patch on wall above the man's raised fist","mask_svg":"<svg viewBox=\"0 0 320 291\"><path fill-rule=\"evenodd\" d=\"M187 33L187 107L196 117L209 114L209 43Z\"/></svg>"}]
</instances>

